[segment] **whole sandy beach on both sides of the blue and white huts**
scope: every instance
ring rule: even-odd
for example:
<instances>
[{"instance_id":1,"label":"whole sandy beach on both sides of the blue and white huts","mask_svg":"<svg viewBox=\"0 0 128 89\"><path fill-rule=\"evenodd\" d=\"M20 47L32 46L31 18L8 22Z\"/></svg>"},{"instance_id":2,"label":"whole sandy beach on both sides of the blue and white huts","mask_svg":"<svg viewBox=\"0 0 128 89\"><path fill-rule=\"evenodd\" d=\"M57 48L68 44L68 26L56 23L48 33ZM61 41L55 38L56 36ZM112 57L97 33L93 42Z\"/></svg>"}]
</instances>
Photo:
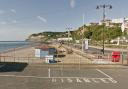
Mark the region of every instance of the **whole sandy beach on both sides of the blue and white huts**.
<instances>
[{"instance_id":1,"label":"whole sandy beach on both sides of the blue and white huts","mask_svg":"<svg viewBox=\"0 0 128 89\"><path fill-rule=\"evenodd\" d=\"M55 60L59 61L58 63L90 63L91 61L85 57L82 57L76 53L67 54L64 47L59 47L59 44L52 44L51 47L55 47L57 50L65 51L64 57L57 57ZM30 62L30 63L45 63L45 59L40 59L35 57L35 47L25 47L25 48L16 48L11 49L0 54L0 61L2 62Z\"/></svg>"}]
</instances>

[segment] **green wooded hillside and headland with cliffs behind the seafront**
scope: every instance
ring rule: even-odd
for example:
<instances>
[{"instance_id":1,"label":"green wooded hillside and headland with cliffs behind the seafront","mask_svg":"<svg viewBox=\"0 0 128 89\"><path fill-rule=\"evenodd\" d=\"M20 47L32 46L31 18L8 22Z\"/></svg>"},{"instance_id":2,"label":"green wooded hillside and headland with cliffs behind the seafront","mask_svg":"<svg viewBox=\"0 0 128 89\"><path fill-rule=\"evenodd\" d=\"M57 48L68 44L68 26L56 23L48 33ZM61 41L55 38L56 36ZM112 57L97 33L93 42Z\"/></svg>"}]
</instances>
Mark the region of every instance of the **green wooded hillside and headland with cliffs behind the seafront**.
<instances>
[{"instance_id":1,"label":"green wooded hillside and headland with cliffs behind the seafront","mask_svg":"<svg viewBox=\"0 0 128 89\"><path fill-rule=\"evenodd\" d=\"M77 30L70 31L70 36L73 40L80 40L83 38L91 39L92 41L102 41L103 39L103 29L104 29L104 38L106 41L110 41L118 36L122 35L121 27L115 25L113 27L106 27L103 25L89 25L81 26ZM123 35L126 35L124 32ZM34 33L28 37L27 40L36 40L36 41L48 41L52 39L68 37L68 32L42 32Z\"/></svg>"}]
</instances>

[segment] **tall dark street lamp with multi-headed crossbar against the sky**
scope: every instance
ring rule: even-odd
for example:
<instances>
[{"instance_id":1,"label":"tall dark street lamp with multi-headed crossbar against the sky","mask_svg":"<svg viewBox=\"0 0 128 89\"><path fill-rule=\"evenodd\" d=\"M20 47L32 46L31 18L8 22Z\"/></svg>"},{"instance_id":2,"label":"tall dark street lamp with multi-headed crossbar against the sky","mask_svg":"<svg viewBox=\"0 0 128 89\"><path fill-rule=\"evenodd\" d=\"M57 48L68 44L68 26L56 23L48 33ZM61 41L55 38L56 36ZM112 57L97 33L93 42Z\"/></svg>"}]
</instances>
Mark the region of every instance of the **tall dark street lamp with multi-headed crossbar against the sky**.
<instances>
[{"instance_id":1,"label":"tall dark street lamp with multi-headed crossbar against the sky","mask_svg":"<svg viewBox=\"0 0 128 89\"><path fill-rule=\"evenodd\" d=\"M109 8L109 9L112 9L112 5L98 5L96 7L96 9L100 9L102 8L103 9L103 49L102 49L102 52L104 54L104 28L105 28L105 9L106 8Z\"/></svg>"}]
</instances>

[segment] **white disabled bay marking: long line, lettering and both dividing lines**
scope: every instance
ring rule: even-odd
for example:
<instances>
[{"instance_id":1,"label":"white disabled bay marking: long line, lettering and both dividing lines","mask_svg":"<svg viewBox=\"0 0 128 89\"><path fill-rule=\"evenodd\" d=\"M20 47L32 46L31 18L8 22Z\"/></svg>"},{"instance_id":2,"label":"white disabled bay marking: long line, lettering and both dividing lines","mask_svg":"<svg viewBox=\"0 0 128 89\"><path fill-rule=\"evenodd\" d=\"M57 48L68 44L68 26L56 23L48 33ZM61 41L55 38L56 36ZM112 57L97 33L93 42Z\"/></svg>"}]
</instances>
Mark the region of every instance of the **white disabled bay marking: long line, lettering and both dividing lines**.
<instances>
[{"instance_id":1,"label":"white disabled bay marking: long line, lettering and both dividing lines","mask_svg":"<svg viewBox=\"0 0 128 89\"><path fill-rule=\"evenodd\" d=\"M86 77L86 75L84 76L78 76L78 77L70 77L70 76L55 76L54 72L53 74L51 69L48 68L47 69L47 76L29 76L29 75L16 75L16 74L10 74L10 75L6 75L6 74L0 74L0 77L12 77L12 78L35 78L35 79L46 79L46 80L50 80L52 83L117 83L116 80L114 80L111 76L109 76L108 74L106 74L105 72L101 71L100 69L96 69L95 71L98 71L98 74L100 73L100 75L102 74L102 77L95 77L94 76L88 76ZM54 71L54 70L53 70ZM51 76L52 75L52 76ZM55 76L55 77L54 77ZM77 76L77 75L76 75ZM97 76L97 74L96 74Z\"/></svg>"}]
</instances>

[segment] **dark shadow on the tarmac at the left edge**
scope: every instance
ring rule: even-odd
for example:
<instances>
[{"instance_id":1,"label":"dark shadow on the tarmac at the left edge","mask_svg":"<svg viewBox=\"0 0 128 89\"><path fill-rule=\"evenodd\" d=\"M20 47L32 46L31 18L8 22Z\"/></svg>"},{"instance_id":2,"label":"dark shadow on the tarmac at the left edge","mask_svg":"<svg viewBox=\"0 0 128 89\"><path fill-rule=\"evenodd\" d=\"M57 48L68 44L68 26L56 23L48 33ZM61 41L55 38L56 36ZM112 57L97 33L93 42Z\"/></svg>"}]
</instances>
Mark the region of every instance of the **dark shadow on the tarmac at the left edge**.
<instances>
[{"instance_id":1,"label":"dark shadow on the tarmac at the left edge","mask_svg":"<svg viewBox=\"0 0 128 89\"><path fill-rule=\"evenodd\" d=\"M0 72L21 72L27 67L27 63L1 62Z\"/></svg>"}]
</instances>

